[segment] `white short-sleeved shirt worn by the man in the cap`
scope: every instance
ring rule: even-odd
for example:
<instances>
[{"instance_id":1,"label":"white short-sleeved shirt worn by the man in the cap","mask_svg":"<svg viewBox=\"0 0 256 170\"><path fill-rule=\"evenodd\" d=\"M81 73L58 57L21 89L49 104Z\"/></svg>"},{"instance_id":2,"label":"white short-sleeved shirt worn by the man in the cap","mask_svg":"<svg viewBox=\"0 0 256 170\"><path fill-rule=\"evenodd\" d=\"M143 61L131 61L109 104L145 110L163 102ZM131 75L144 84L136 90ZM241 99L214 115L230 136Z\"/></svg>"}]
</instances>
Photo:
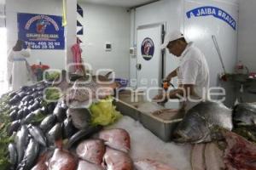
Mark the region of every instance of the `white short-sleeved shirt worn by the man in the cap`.
<instances>
[{"instance_id":1,"label":"white short-sleeved shirt worn by the man in the cap","mask_svg":"<svg viewBox=\"0 0 256 170\"><path fill-rule=\"evenodd\" d=\"M193 84L195 94L197 94L198 97L207 97L209 88L209 68L207 60L201 50L193 45L193 42L189 42L187 48L181 55L177 79L180 84Z\"/></svg>"}]
</instances>

